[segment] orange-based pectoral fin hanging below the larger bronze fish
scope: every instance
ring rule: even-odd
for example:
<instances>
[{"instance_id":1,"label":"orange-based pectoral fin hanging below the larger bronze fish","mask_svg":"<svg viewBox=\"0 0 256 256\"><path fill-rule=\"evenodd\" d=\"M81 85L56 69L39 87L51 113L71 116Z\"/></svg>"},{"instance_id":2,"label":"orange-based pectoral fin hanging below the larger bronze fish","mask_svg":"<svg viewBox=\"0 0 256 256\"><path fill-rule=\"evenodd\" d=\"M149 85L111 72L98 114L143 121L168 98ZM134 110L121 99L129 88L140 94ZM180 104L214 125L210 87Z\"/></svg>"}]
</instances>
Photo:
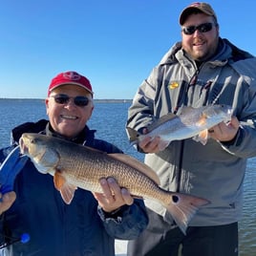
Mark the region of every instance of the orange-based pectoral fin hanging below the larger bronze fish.
<instances>
[{"instance_id":1,"label":"orange-based pectoral fin hanging below the larger bronze fish","mask_svg":"<svg viewBox=\"0 0 256 256\"><path fill-rule=\"evenodd\" d=\"M55 172L53 176L54 186L60 192L63 201L70 204L75 195L75 185L68 183L60 172Z\"/></svg>"}]
</instances>

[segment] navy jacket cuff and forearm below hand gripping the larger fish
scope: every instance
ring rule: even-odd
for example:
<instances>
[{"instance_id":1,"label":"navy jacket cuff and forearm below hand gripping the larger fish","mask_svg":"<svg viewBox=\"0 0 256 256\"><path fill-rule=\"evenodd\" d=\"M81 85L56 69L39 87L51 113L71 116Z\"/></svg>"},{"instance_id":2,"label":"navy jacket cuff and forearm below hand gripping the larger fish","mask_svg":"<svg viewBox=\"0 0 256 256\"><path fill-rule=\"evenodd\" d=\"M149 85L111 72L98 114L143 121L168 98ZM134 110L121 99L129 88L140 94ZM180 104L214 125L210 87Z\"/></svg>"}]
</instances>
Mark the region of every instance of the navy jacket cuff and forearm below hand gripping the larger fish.
<instances>
[{"instance_id":1,"label":"navy jacket cuff and forearm below hand gripping the larger fish","mask_svg":"<svg viewBox=\"0 0 256 256\"><path fill-rule=\"evenodd\" d=\"M148 217L142 200L122 206L113 216L98 207L98 215L108 234L116 239L132 240L146 228Z\"/></svg>"}]
</instances>

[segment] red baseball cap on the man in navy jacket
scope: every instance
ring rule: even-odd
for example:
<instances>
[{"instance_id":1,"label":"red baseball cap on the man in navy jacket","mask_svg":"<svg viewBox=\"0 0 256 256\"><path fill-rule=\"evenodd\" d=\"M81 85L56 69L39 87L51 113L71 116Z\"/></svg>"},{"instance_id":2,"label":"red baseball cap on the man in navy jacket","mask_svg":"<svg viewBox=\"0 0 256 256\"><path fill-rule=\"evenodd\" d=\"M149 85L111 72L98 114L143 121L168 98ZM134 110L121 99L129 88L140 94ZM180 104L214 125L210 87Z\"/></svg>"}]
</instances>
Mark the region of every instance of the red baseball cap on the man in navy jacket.
<instances>
[{"instance_id":1,"label":"red baseball cap on the man in navy jacket","mask_svg":"<svg viewBox=\"0 0 256 256\"><path fill-rule=\"evenodd\" d=\"M51 92L55 88L64 84L75 84L86 89L90 94L92 95L94 94L92 85L88 78L86 78L83 75L79 75L75 71L68 71L68 72L60 73L53 78L48 88L48 96L50 96Z\"/></svg>"}]
</instances>

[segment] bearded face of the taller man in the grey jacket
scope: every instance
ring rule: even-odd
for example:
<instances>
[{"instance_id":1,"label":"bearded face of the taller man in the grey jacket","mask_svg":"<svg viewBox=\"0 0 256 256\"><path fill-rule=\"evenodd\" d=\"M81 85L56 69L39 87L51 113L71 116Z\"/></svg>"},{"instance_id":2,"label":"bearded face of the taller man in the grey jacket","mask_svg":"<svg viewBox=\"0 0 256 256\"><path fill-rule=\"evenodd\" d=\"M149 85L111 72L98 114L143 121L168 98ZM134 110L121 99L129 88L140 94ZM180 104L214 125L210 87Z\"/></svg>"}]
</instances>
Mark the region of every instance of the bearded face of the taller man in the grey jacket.
<instances>
[{"instance_id":1,"label":"bearded face of the taller man in the grey jacket","mask_svg":"<svg viewBox=\"0 0 256 256\"><path fill-rule=\"evenodd\" d=\"M216 52L219 42L219 26L215 26L212 16L204 13L190 14L182 25L183 28L204 23L212 23L212 29L208 32L196 30L192 34L181 32L182 49L198 61L205 61Z\"/></svg>"}]
</instances>

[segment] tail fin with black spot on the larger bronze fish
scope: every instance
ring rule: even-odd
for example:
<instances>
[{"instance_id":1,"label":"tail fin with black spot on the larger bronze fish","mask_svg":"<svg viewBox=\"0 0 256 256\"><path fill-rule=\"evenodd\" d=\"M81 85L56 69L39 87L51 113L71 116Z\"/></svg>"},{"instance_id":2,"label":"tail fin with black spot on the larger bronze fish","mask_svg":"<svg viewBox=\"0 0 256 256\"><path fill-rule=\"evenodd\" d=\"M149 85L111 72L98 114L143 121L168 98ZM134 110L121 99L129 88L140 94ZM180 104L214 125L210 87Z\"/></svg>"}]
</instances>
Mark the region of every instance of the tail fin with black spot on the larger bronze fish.
<instances>
[{"instance_id":1,"label":"tail fin with black spot on the larger bronze fish","mask_svg":"<svg viewBox=\"0 0 256 256\"><path fill-rule=\"evenodd\" d=\"M181 193L171 194L171 201L169 204L165 205L166 209L172 215L174 221L181 228L183 234L186 233L186 228L195 216L200 206L210 203L208 200L203 198L198 198L190 195L185 195Z\"/></svg>"}]
</instances>

